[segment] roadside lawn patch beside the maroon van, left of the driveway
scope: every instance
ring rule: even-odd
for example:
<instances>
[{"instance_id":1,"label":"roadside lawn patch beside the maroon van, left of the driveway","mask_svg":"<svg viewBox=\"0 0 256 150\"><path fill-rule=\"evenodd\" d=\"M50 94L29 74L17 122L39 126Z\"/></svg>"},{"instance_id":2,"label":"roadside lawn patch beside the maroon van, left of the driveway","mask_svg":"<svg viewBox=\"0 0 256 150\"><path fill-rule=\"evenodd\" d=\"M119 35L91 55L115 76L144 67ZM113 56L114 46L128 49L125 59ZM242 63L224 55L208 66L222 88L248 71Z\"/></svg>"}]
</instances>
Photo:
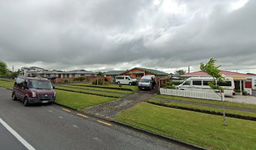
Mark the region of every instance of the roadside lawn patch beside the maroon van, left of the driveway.
<instances>
[{"instance_id":1,"label":"roadside lawn patch beside the maroon van, left of the driveway","mask_svg":"<svg viewBox=\"0 0 256 150\"><path fill-rule=\"evenodd\" d=\"M73 93L56 89L56 103L68 106L73 109L83 109L90 106L115 101L117 98L107 98L90 94Z\"/></svg>"}]
</instances>

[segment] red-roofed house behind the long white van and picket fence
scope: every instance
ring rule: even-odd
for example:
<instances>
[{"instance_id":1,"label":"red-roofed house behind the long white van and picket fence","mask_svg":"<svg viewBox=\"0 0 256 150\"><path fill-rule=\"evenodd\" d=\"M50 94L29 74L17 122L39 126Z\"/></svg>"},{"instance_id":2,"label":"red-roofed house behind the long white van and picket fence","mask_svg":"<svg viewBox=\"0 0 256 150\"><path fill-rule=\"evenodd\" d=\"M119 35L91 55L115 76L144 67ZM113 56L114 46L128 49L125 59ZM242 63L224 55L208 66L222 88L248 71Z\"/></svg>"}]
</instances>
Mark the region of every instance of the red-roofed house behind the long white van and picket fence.
<instances>
[{"instance_id":1,"label":"red-roofed house behind the long white van and picket fence","mask_svg":"<svg viewBox=\"0 0 256 150\"><path fill-rule=\"evenodd\" d=\"M242 84L242 88L256 89L256 75L255 74L243 74L243 73L235 73L231 71L220 71L220 74L223 74L227 77L231 77L234 79L235 88L240 89L240 83ZM194 73L188 73L181 75L184 79L188 79L190 77L205 77L209 76L207 73L203 71L196 71Z\"/></svg>"}]
</instances>

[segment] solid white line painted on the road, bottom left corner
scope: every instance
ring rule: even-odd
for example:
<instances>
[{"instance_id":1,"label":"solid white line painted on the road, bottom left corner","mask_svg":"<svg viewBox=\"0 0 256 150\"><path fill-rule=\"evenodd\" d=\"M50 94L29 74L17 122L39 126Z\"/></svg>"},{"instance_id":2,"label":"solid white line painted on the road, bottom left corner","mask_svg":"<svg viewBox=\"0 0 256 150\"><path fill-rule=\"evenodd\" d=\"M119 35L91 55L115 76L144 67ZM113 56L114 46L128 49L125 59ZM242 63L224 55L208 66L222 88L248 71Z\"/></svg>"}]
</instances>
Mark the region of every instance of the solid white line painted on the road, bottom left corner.
<instances>
[{"instance_id":1,"label":"solid white line painted on the road, bottom left corner","mask_svg":"<svg viewBox=\"0 0 256 150\"><path fill-rule=\"evenodd\" d=\"M11 128L6 122L3 121L3 119L0 118L0 123L3 124L3 126L8 129L8 131L13 134L13 136L15 136L15 138L17 138L19 140L19 142L21 142L27 149L29 150L35 150L35 148L33 148L33 146L31 146L26 140L24 140L21 136L19 136L19 134L14 131L13 128Z\"/></svg>"}]
</instances>

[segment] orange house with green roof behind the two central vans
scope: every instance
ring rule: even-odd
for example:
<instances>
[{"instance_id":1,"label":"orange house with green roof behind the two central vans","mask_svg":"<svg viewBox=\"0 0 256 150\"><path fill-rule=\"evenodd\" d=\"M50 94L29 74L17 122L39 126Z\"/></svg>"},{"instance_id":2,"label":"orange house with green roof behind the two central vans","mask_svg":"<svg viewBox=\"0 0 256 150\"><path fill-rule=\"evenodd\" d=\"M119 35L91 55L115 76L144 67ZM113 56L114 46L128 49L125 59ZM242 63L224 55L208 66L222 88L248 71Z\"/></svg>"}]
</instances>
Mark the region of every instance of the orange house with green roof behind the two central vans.
<instances>
[{"instance_id":1,"label":"orange house with green roof behind the two central vans","mask_svg":"<svg viewBox=\"0 0 256 150\"><path fill-rule=\"evenodd\" d=\"M126 71L108 71L107 73L104 73L104 76L111 82L115 82L115 76L131 76L139 81L141 77L145 75L155 75L156 82L158 82L159 79L168 78L168 73L147 68L132 68Z\"/></svg>"}]
</instances>

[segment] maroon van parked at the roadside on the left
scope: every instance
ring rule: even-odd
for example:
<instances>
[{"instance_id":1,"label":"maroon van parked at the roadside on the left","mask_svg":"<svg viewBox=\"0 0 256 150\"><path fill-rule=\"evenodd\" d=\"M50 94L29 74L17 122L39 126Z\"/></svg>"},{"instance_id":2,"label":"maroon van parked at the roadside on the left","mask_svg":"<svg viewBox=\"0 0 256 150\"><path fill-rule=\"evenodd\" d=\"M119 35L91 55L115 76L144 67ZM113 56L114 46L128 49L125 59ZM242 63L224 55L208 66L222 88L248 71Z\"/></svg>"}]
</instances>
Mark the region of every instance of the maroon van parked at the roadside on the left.
<instances>
[{"instance_id":1,"label":"maroon van parked at the roadside on the left","mask_svg":"<svg viewBox=\"0 0 256 150\"><path fill-rule=\"evenodd\" d=\"M54 87L45 78L19 76L13 86L12 99L20 99L24 106L37 103L53 103L56 98Z\"/></svg>"}]
</instances>

